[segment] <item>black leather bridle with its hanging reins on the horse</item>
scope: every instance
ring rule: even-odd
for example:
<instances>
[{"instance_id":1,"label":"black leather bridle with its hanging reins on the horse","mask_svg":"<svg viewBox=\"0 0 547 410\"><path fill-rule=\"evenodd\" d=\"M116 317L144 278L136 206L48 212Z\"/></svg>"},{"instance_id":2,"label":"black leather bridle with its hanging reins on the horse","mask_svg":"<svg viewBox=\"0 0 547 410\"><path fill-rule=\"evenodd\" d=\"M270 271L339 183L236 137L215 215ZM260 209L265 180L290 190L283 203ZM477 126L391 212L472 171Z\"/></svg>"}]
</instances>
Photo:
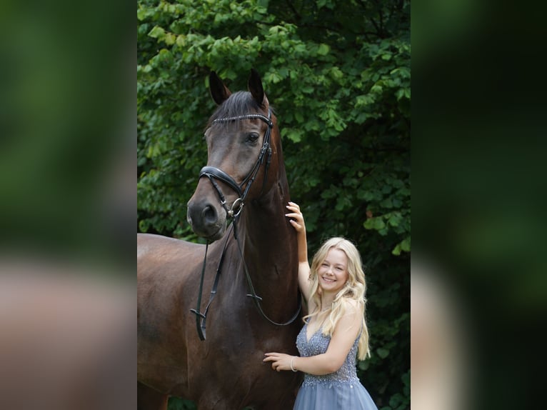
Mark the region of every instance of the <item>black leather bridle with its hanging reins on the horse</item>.
<instances>
[{"instance_id":1,"label":"black leather bridle with its hanging reins on the horse","mask_svg":"<svg viewBox=\"0 0 547 410\"><path fill-rule=\"evenodd\" d=\"M266 314L264 313L264 310L261 306L262 298L256 294L254 291L253 282L251 281L251 276L249 275L249 269L247 269L247 265L245 263L245 259L243 256L243 251L241 251L241 244L239 241L238 236L238 221L239 216L241 215L241 211L245 204L245 199L247 194L249 194L249 189L251 189L251 185L253 184L256 175L259 174L259 169L261 165L264 163L264 159L267 154L266 159L266 165L264 166L264 182L262 184L262 191L264 191L264 186L266 185L266 179L268 177L268 169L271 162L271 146L270 146L270 136L271 136L271 129L273 128L273 122L271 121L271 110L268 109L268 116L265 116L263 114L245 114L241 116L232 116L222 119L215 119L213 123L217 122L230 122L230 121L241 121L244 119L261 119L262 121L266 122L268 124L268 129L266 129L266 133L264 134L264 140L262 142L262 148L259 153L259 158L256 160L256 163L254 164L251 171L249 171L249 174L241 181L241 184L237 184L234 179L229 176L229 174L226 174L226 172L222 171L219 168L216 168L214 166L204 166L201 171L199 172L199 178L206 176L209 181L211 181L211 184L213 185L216 193L219 195L219 200L221 202L222 207L226 211L226 215L232 219L231 224L231 231L234 232L234 238L236 239L238 249L239 249L239 255L241 256L241 260L244 263L244 270L245 275L247 279L247 283L249 284L249 290L251 291L250 294L247 294L247 296L250 296L255 304L256 307L259 309L260 314L269 321L271 324L274 324L276 326L286 326L288 324L293 323L293 321L296 320L298 317L298 314L300 314L300 311L302 309L302 299L300 292L298 292L298 309L296 310L296 314L294 314L291 319L289 319L286 322L283 323L277 323L276 321L271 320ZM238 194L238 198L234 201L234 203L229 206L226 204L226 199L224 198L224 194L222 193L222 190L219 187L219 184L216 184L216 181L222 181L224 184L227 184L231 187L231 189L234 189L236 193ZM245 189L244 189L245 186ZM190 309L190 311L196 315L196 329L198 331L198 336L200 340L205 340L205 332L206 332L206 319L207 319L207 312L209 311L209 306L211 306L211 302L213 301L214 297L216 296L216 288L219 284L220 274L221 274L221 268L222 264L224 262L224 254L226 253L226 246L228 244L228 239L230 235L226 234L226 240L224 241L224 248L222 249L221 259L219 260L219 266L216 269L216 276L215 281L213 284L213 289L211 289L211 294L209 296L209 303L206 306L206 309L204 313L201 313L201 295L203 294L203 286L204 286L204 276L205 276L205 264L207 260L207 250L209 249L209 241L206 243L205 247L205 256L204 256L204 264L201 269L201 281L199 284L199 295L198 295L198 303L196 309Z\"/></svg>"}]
</instances>

